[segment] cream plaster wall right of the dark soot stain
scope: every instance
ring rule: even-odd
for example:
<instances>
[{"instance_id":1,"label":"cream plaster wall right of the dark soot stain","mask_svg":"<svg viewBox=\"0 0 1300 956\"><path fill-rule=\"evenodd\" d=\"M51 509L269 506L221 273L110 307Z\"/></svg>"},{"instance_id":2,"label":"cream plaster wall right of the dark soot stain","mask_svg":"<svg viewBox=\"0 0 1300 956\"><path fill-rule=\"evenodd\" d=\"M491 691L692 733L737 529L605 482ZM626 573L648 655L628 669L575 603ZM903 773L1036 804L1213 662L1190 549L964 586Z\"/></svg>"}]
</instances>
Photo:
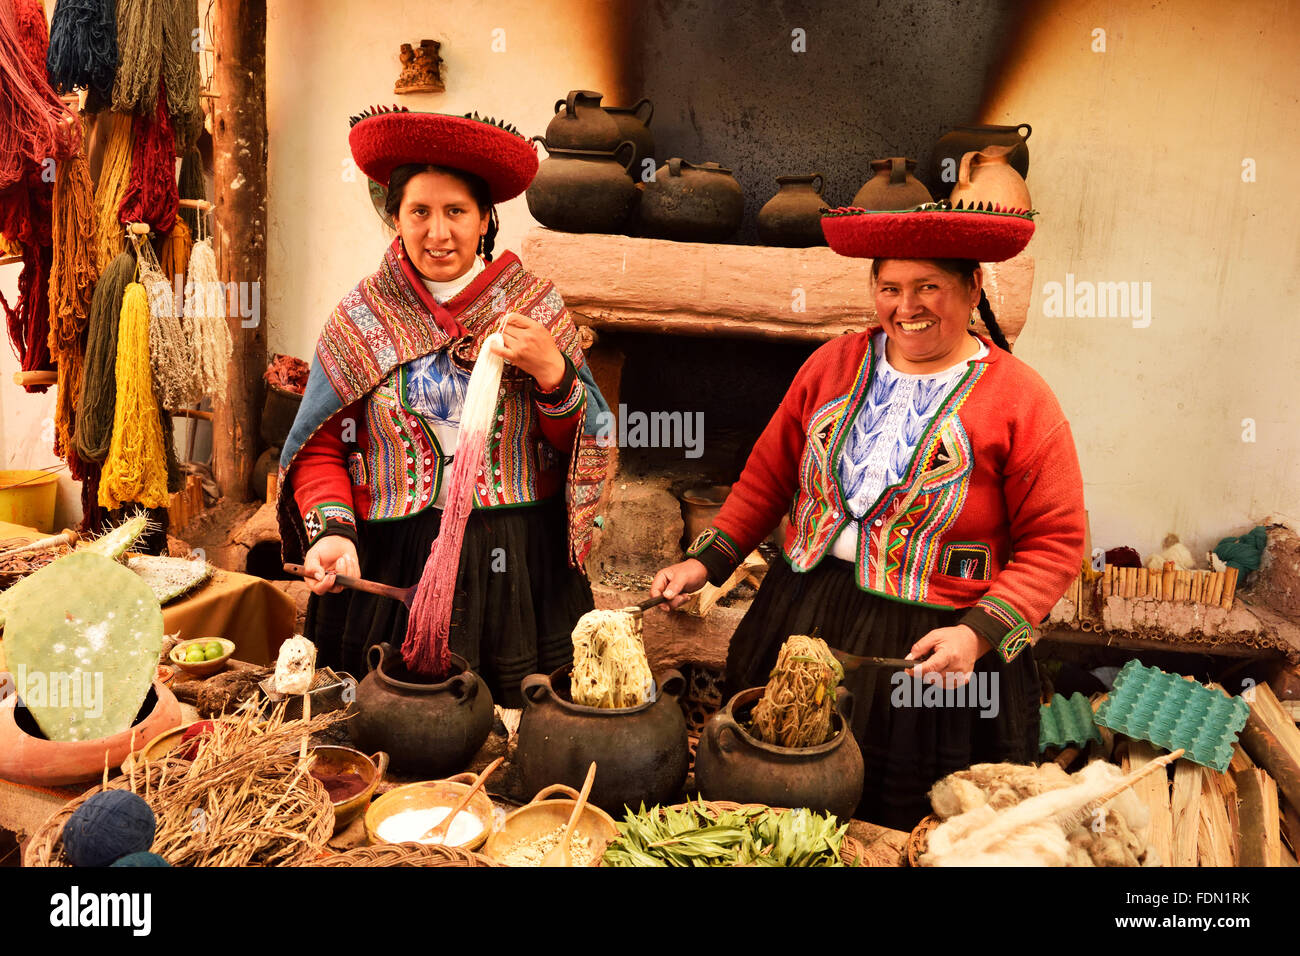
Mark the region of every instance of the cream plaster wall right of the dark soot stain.
<instances>
[{"instance_id":1,"label":"cream plaster wall right of the dark soot stain","mask_svg":"<svg viewBox=\"0 0 1300 956\"><path fill-rule=\"evenodd\" d=\"M1300 511L1300 13L1040 9L984 117L1034 125L1036 293L1017 354L1070 418L1093 545L1147 554L1174 531L1204 561L1221 537ZM1044 285L1066 273L1150 282L1149 326L1045 316Z\"/></svg>"}]
</instances>

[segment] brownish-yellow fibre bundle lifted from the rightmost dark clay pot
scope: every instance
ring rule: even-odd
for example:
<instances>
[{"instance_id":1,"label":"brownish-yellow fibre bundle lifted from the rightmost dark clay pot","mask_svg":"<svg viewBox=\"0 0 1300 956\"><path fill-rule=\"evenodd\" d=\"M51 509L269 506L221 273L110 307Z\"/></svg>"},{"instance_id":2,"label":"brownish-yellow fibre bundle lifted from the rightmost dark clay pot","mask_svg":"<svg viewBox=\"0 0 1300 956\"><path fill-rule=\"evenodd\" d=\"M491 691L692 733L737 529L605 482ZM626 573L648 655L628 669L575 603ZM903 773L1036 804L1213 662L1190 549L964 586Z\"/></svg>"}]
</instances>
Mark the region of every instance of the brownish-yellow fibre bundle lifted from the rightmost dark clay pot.
<instances>
[{"instance_id":1,"label":"brownish-yellow fibre bundle lifted from the rightmost dark clay pot","mask_svg":"<svg viewBox=\"0 0 1300 956\"><path fill-rule=\"evenodd\" d=\"M831 736L844 667L820 637L792 635L754 705L753 731L776 747L816 747Z\"/></svg>"}]
</instances>

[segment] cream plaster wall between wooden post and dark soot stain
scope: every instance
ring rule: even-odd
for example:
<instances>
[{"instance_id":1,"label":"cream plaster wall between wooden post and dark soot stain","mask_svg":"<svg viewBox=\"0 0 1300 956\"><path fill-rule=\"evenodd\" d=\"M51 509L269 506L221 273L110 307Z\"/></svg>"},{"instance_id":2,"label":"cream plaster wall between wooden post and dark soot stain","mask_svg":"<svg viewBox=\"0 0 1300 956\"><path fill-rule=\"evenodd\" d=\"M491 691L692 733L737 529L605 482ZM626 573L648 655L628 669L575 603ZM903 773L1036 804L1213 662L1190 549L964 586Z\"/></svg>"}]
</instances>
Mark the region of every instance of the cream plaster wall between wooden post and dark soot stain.
<instances>
[{"instance_id":1,"label":"cream plaster wall between wooden post and dark soot stain","mask_svg":"<svg viewBox=\"0 0 1300 956\"><path fill-rule=\"evenodd\" d=\"M391 241L365 177L356 170L354 182L343 178L351 156L347 117L372 104L439 113L477 109L532 137L546 131L555 100L569 90L599 90L618 105L606 65L610 7L597 0L269 0L270 221L263 300L272 352L311 362L330 311L374 272ZM498 29L504 30L504 52L493 49ZM447 90L398 96L398 51L421 39L442 43ZM498 212L497 250L517 251L534 225L524 198Z\"/></svg>"}]
</instances>

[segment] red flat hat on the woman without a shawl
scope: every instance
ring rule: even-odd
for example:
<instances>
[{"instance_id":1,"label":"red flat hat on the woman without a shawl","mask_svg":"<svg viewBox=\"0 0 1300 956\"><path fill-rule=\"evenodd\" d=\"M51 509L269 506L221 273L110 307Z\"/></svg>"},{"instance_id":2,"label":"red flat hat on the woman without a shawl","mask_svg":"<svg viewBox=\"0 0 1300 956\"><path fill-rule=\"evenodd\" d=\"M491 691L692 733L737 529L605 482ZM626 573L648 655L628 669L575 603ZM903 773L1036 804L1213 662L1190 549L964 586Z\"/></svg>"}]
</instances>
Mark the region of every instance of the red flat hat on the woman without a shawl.
<instances>
[{"instance_id":1,"label":"red flat hat on the woman without a shawl","mask_svg":"<svg viewBox=\"0 0 1300 956\"><path fill-rule=\"evenodd\" d=\"M855 259L974 259L1000 263L1034 235L1028 209L953 209L930 203L907 212L845 206L822 216L831 248Z\"/></svg>"}]
</instances>

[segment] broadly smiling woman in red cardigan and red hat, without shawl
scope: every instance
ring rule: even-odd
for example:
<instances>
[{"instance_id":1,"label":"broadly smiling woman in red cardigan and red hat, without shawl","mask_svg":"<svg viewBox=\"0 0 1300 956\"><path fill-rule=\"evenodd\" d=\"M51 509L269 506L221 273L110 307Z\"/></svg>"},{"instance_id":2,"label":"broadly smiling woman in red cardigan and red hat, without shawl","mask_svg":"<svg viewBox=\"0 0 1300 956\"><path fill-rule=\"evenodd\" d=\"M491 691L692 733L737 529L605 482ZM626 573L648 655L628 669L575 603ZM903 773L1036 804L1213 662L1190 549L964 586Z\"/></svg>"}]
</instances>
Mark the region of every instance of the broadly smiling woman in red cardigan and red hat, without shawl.
<instances>
[{"instance_id":1,"label":"broadly smiling woman in red cardigan and red hat, without shawl","mask_svg":"<svg viewBox=\"0 0 1300 956\"><path fill-rule=\"evenodd\" d=\"M812 354L712 527L650 592L676 607L720 584L788 515L785 562L732 637L728 692L764 684L790 635L824 639L854 693L858 816L884 826L911 829L954 770L1039 752L1031 645L1079 574L1083 483L1061 406L1010 355L979 265L1017 255L1031 216L823 219L832 248L874 260L879 325ZM920 662L905 674L864 657Z\"/></svg>"}]
</instances>

